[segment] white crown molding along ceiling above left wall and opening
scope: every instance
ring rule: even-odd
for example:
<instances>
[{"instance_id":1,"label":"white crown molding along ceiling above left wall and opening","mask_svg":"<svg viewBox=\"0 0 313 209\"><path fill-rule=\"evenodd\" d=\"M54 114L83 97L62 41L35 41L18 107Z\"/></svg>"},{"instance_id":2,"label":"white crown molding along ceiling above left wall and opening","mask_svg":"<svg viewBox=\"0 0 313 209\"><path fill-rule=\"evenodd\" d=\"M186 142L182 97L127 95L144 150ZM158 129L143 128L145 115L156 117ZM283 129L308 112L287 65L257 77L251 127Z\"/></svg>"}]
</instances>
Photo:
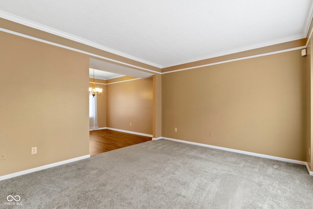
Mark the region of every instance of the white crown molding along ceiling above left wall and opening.
<instances>
[{"instance_id":1,"label":"white crown molding along ceiling above left wall and opening","mask_svg":"<svg viewBox=\"0 0 313 209\"><path fill-rule=\"evenodd\" d=\"M60 37L63 37L63 38L75 41L75 42L78 42L78 43L81 43L81 44L92 46L92 47L95 47L95 48L98 48L98 49L110 52L112 54L116 54L118 56L122 56L122 57L131 59L131 60L134 60L134 61L137 61L137 62L141 62L141 63L147 64L147 65L151 65L151 66L154 66L156 68L161 68L161 65L158 65L156 63L153 63L153 62L150 62L150 61L147 61L147 60L144 60L144 59L140 59L138 57L132 56L130 54L127 54L127 53L124 53L124 52L121 52L121 51L117 51L117 50L109 48L107 46L102 46L102 45L96 44L96 43L91 42L89 40L86 40L86 39L80 38L78 36L75 36L75 35L63 32L61 30L54 29L52 27L45 26L45 25L40 24L40 23L35 23L33 21L26 20L24 18L18 17L16 15L12 15L12 14L4 12L2 10L0 10L0 17L3 18L3 19L9 20L9 21L13 21L15 23L20 23L20 24L23 24L23 25L26 25L26 26L29 26L29 27L32 27L32 28L35 28L35 29L38 29L38 30L45 31L47 33L51 33L51 34L54 34L54 35L57 35L57 36L60 36Z\"/></svg>"}]
</instances>

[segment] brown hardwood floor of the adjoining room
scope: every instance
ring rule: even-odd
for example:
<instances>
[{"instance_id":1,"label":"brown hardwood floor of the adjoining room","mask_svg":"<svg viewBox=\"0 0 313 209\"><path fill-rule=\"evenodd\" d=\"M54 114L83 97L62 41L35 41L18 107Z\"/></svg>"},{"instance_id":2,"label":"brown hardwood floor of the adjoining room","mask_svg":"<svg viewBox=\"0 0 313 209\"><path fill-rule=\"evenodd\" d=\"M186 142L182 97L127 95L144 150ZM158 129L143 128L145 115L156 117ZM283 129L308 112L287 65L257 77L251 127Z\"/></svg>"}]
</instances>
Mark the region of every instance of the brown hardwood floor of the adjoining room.
<instances>
[{"instance_id":1,"label":"brown hardwood floor of the adjoining room","mask_svg":"<svg viewBox=\"0 0 313 209\"><path fill-rule=\"evenodd\" d=\"M128 134L109 129L89 131L89 153L91 156L114 149L150 141L151 137Z\"/></svg>"}]
</instances>

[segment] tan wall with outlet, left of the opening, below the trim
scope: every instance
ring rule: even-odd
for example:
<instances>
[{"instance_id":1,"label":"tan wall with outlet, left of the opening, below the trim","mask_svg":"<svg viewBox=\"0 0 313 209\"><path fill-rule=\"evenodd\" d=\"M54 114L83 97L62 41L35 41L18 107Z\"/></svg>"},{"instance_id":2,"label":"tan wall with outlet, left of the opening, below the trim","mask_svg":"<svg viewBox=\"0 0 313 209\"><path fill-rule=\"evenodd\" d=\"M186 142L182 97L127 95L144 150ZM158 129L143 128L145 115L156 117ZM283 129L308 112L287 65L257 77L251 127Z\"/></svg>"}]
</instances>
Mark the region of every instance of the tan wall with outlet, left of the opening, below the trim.
<instances>
[{"instance_id":1,"label":"tan wall with outlet, left of the opening, below the trim","mask_svg":"<svg viewBox=\"0 0 313 209\"><path fill-rule=\"evenodd\" d=\"M84 54L0 32L0 176L89 155L88 69Z\"/></svg>"}]
</instances>

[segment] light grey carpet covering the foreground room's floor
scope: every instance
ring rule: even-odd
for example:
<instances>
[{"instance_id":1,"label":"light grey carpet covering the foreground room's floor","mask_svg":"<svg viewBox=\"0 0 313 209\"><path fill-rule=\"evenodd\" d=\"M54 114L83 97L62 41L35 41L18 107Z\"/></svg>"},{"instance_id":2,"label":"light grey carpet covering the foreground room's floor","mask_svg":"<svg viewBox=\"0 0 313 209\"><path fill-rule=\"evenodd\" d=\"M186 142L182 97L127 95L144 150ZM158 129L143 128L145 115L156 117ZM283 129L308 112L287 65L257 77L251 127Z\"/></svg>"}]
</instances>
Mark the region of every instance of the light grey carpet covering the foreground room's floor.
<instances>
[{"instance_id":1,"label":"light grey carpet covering the foreground room's floor","mask_svg":"<svg viewBox=\"0 0 313 209\"><path fill-rule=\"evenodd\" d=\"M313 177L304 165L161 139L0 181L0 208L312 209Z\"/></svg>"}]
</instances>

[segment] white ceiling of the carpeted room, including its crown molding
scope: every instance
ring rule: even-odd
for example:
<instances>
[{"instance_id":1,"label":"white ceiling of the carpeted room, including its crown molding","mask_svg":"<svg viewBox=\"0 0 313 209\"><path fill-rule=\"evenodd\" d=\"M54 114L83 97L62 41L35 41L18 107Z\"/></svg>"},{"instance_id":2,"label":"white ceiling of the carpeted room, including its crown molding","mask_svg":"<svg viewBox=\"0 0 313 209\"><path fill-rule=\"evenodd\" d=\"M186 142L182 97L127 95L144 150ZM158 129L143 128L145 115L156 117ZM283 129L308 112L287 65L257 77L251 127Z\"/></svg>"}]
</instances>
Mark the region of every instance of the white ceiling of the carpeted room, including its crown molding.
<instances>
[{"instance_id":1,"label":"white ceiling of the carpeted room, including its crown molding","mask_svg":"<svg viewBox=\"0 0 313 209\"><path fill-rule=\"evenodd\" d=\"M0 0L0 17L156 67L305 38L313 0Z\"/></svg>"}]
</instances>

